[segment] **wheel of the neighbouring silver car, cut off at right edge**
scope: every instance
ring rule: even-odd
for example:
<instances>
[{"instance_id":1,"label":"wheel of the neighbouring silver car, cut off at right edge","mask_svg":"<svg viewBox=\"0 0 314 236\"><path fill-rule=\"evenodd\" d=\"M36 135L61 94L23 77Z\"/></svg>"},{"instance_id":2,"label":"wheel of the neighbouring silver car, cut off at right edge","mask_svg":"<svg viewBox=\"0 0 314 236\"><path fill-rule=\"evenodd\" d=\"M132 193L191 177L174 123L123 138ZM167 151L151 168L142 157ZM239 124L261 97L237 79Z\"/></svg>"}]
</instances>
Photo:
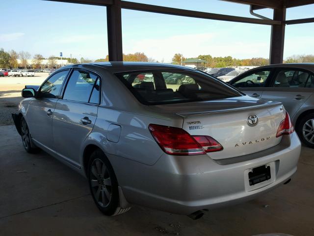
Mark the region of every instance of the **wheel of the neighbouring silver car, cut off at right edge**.
<instances>
[{"instance_id":1,"label":"wheel of the neighbouring silver car, cut off at right edge","mask_svg":"<svg viewBox=\"0 0 314 236\"><path fill-rule=\"evenodd\" d=\"M306 146L314 148L314 113L301 118L297 124L296 131Z\"/></svg>"}]
</instances>

